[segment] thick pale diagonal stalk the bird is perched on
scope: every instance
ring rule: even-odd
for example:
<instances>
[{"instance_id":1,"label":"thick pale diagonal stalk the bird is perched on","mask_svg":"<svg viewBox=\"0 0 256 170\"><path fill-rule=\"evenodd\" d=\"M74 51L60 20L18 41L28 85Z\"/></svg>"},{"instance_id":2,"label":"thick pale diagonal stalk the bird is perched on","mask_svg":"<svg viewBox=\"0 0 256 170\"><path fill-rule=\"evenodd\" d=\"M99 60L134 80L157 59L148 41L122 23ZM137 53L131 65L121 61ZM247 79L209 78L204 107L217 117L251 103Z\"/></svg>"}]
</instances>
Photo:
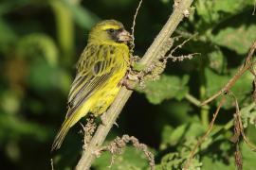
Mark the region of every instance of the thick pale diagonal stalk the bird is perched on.
<instances>
[{"instance_id":1,"label":"thick pale diagonal stalk the bird is perched on","mask_svg":"<svg viewBox=\"0 0 256 170\"><path fill-rule=\"evenodd\" d=\"M152 64L154 59L157 57L161 46L174 33L176 26L178 26L178 24L184 18L184 12L186 11L186 9L191 7L192 1L193 0L183 0L178 4L177 7L174 8L173 14L170 16L165 26L163 26L163 28L155 38L155 41L148 48L144 57L139 61L141 64L146 66L145 68ZM105 113L106 121L104 125L100 125L98 127L91 142L87 145L86 150L82 151L82 158L77 164L77 170L87 170L90 168L92 162L96 158L95 152L101 147L101 144L104 142L110 128L113 127L113 124L116 122L120 111L124 107L131 94L132 91L127 90L125 87L121 88L114 103Z\"/></svg>"}]
</instances>

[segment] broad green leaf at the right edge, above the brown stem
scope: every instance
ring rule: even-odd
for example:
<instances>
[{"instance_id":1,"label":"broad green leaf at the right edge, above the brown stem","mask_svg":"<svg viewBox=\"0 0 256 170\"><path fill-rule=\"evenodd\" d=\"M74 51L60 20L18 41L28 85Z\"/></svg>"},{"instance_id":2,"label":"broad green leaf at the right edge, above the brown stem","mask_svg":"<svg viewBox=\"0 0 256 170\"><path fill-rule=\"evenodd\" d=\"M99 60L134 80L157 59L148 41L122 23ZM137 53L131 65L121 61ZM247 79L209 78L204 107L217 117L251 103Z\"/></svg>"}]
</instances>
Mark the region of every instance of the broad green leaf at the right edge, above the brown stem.
<instances>
[{"instance_id":1,"label":"broad green leaf at the right edge, above the brown stem","mask_svg":"<svg viewBox=\"0 0 256 170\"><path fill-rule=\"evenodd\" d=\"M216 36L212 36L211 41L243 55L256 39L255 32L256 25L227 27L221 29Z\"/></svg>"}]
</instances>

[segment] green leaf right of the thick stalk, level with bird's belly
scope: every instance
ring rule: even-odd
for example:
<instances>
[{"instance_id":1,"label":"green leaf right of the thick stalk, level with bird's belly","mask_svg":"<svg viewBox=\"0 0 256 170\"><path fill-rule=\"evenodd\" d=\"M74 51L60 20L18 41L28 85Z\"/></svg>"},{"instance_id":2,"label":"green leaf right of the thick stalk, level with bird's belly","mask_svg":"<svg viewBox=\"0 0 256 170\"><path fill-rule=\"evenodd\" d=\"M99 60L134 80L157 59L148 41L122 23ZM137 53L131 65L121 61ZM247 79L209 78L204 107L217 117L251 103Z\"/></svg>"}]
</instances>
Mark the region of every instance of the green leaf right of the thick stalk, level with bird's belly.
<instances>
[{"instance_id":1,"label":"green leaf right of the thick stalk, level with bird's belly","mask_svg":"<svg viewBox=\"0 0 256 170\"><path fill-rule=\"evenodd\" d=\"M146 82L144 89L138 89L138 92L145 93L147 99L152 104L159 104L163 100L176 98L181 100L189 92L187 83L189 76L167 76L162 75L156 81Z\"/></svg>"}]
</instances>

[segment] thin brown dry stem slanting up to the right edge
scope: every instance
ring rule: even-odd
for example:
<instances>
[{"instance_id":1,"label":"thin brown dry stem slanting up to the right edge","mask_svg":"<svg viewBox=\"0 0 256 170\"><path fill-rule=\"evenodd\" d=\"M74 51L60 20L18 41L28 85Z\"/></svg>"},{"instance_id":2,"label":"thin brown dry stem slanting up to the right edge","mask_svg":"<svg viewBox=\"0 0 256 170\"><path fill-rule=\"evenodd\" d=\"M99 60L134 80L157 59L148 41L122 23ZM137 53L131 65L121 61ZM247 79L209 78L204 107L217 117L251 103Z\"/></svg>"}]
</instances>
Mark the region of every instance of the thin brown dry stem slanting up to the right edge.
<instances>
[{"instance_id":1,"label":"thin brown dry stem slanting up to the right edge","mask_svg":"<svg viewBox=\"0 0 256 170\"><path fill-rule=\"evenodd\" d=\"M206 105L210 101L214 100L216 97L218 97L222 93L226 93L230 90L230 88L235 84L235 82L242 76L248 69L251 68L255 62L251 61L252 55L256 49L256 41L254 41L250 47L249 53L247 55L246 63L243 64L240 69L236 72L236 74L229 80L229 82L217 93L213 94L208 98L207 100L203 101L201 105Z\"/></svg>"}]
</instances>

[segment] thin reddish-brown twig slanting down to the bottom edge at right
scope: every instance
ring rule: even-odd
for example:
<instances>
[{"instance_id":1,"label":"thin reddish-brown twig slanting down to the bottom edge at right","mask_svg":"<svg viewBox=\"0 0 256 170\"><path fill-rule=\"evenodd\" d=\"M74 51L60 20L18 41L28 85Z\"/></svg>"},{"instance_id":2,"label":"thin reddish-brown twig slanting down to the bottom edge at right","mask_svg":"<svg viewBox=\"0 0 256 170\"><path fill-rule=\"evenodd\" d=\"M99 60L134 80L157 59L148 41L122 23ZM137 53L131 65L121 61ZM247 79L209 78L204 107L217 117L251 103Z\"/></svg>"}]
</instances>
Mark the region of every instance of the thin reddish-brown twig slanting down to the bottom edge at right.
<instances>
[{"instance_id":1,"label":"thin reddish-brown twig slanting down to the bottom edge at right","mask_svg":"<svg viewBox=\"0 0 256 170\"><path fill-rule=\"evenodd\" d=\"M226 101L226 98L223 96L222 99L221 99L221 101L220 101L220 103L219 103L219 105L218 105L217 110L216 110L216 111L214 112L214 114L213 114L213 117L212 117L212 119L211 119L211 121L210 121L210 126L209 126L208 129L207 129L207 132L204 134L203 137L201 137L201 138L198 140L197 144L195 144L195 146L192 148L192 152L191 152L190 158L189 158L189 160L186 162L186 164L185 164L185 166L184 166L184 169L185 169L185 170L188 170L188 169L189 169L189 166L190 166L190 164L191 164L191 161L192 161L193 155L195 154L196 149L199 147L199 145L201 145L201 144L206 140L206 138L208 138L208 136L209 136L209 134L210 134L210 131L211 131L213 125L214 125L215 119L216 119L216 117L217 117L217 115L218 115L218 113L219 113L221 107L222 107L223 104L225 103L225 101Z\"/></svg>"}]
</instances>

